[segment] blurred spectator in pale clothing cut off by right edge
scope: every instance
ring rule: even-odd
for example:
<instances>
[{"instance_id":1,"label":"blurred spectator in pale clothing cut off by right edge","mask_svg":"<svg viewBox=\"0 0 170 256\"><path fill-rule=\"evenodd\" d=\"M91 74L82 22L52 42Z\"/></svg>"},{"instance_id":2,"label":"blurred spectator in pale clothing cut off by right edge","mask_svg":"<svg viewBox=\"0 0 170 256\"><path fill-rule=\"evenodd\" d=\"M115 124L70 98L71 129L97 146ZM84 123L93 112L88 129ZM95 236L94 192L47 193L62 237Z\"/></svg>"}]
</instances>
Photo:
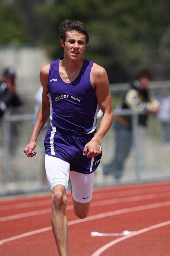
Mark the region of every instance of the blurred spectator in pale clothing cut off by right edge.
<instances>
[{"instance_id":1,"label":"blurred spectator in pale clothing cut off by right edge","mask_svg":"<svg viewBox=\"0 0 170 256\"><path fill-rule=\"evenodd\" d=\"M165 94L161 100L160 109L158 112L158 118L163 127L163 142L170 142L170 94Z\"/></svg>"}]
</instances>

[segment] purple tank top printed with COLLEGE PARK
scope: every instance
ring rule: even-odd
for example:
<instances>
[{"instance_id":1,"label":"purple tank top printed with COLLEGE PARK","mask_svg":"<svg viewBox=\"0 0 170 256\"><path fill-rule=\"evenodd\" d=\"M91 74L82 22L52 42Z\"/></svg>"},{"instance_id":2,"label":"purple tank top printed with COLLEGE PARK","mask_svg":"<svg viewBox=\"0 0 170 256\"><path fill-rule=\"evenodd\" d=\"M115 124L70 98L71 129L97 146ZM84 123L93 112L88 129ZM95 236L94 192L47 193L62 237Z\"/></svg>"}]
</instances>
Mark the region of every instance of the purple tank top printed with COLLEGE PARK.
<instances>
[{"instance_id":1,"label":"purple tank top printed with COLLEGE PARK","mask_svg":"<svg viewBox=\"0 0 170 256\"><path fill-rule=\"evenodd\" d=\"M59 62L62 58L50 64L47 95L51 126L55 129L90 134L96 130L97 112L100 109L90 81L93 62L84 59L77 78L66 83L59 75Z\"/></svg>"}]
</instances>

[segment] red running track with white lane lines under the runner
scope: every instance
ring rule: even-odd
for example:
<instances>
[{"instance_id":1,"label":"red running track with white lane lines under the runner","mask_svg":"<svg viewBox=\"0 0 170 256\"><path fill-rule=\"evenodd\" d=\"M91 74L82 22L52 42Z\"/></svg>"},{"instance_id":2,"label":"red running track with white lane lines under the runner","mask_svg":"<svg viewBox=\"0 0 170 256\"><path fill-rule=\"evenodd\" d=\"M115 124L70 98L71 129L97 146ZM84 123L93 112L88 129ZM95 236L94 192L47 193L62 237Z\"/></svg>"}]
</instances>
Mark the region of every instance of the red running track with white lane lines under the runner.
<instances>
[{"instance_id":1,"label":"red running track with white lane lines under the runner","mask_svg":"<svg viewBox=\"0 0 170 256\"><path fill-rule=\"evenodd\" d=\"M69 256L170 255L170 181L95 188L86 219L67 199ZM50 208L50 193L1 198L0 255L57 256Z\"/></svg>"}]
</instances>

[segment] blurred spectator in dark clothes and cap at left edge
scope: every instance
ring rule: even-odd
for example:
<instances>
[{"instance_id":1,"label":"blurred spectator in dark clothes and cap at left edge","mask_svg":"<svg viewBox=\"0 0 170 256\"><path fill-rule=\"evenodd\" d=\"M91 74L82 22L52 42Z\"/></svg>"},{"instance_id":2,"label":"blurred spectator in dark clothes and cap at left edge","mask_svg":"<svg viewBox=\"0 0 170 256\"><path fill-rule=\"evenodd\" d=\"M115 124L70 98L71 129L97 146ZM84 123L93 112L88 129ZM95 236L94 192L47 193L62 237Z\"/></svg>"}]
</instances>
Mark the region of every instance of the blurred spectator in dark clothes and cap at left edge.
<instances>
[{"instance_id":1,"label":"blurred spectator in dark clothes and cap at left edge","mask_svg":"<svg viewBox=\"0 0 170 256\"><path fill-rule=\"evenodd\" d=\"M12 67L6 68L0 82L0 117L8 111L10 115L21 110L22 102L16 92L16 73ZM18 122L9 123L8 151L11 156L15 155L19 135Z\"/></svg>"}]
</instances>

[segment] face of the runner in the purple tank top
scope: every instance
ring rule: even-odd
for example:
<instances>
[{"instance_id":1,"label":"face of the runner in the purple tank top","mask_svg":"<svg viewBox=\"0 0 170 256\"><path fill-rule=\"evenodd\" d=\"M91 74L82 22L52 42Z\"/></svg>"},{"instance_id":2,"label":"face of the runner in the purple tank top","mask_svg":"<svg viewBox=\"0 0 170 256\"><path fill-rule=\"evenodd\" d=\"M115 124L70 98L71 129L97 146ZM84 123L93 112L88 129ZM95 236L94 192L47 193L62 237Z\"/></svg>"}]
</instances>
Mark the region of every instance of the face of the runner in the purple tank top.
<instances>
[{"instance_id":1,"label":"face of the runner in the purple tank top","mask_svg":"<svg viewBox=\"0 0 170 256\"><path fill-rule=\"evenodd\" d=\"M61 46L64 47L64 53L71 59L78 60L82 58L83 52L86 49L86 36L78 31L68 31L65 44L61 39Z\"/></svg>"}]
</instances>

